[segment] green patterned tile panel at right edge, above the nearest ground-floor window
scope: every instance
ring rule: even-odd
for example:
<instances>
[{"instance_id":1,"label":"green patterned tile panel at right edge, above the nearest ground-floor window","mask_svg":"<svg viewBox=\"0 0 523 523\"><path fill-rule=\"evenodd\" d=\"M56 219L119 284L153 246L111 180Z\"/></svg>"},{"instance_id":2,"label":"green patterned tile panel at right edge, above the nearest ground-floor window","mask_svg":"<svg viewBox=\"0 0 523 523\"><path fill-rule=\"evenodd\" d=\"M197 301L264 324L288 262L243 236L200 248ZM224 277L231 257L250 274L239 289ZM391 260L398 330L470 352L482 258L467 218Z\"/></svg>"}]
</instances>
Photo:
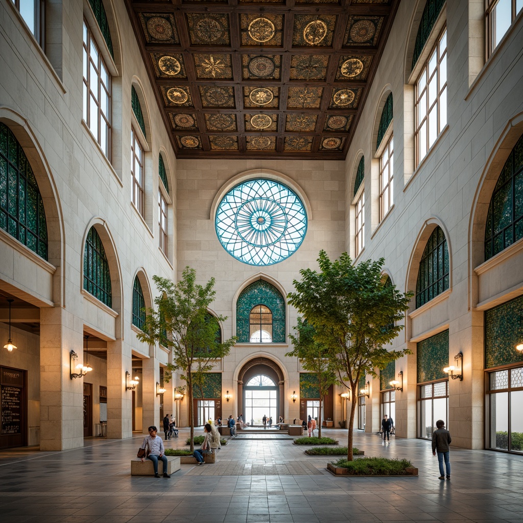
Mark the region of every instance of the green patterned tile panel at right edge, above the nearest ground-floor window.
<instances>
[{"instance_id":1,"label":"green patterned tile panel at right edge, above the nearest ground-floor window","mask_svg":"<svg viewBox=\"0 0 523 523\"><path fill-rule=\"evenodd\" d=\"M523 296L485 311L485 368L523 361Z\"/></svg>"}]
</instances>

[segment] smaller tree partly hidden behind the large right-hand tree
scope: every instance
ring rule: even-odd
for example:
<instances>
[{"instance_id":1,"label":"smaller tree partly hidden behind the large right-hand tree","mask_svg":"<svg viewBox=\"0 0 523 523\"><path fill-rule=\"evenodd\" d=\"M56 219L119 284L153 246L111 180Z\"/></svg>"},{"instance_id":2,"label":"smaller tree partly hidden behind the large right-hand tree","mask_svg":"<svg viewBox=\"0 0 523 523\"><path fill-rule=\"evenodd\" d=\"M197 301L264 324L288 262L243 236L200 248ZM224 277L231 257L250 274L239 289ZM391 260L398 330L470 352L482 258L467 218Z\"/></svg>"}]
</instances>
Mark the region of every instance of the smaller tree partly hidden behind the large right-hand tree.
<instances>
[{"instance_id":1,"label":"smaller tree partly hidden behind the large right-hand tree","mask_svg":"<svg viewBox=\"0 0 523 523\"><path fill-rule=\"evenodd\" d=\"M316 329L313 325L298 316L294 327L297 336L291 338L294 350L286 356L298 357L303 368L315 377L315 385L320 394L320 408L318 410L318 437L322 437L322 410L323 398L328 394L329 387L336 383L337 374L333 360L329 357L329 347L315 341Z\"/></svg>"}]
</instances>

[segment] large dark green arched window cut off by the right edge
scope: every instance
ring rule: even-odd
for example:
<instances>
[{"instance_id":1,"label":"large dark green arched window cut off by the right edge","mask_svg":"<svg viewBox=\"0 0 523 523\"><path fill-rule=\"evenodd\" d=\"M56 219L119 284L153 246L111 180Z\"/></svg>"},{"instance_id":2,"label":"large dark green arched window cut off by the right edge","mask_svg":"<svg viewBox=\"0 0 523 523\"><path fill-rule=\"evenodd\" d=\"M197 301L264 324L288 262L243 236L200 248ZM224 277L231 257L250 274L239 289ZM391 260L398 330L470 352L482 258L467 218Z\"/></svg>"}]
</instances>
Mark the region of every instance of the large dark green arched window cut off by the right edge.
<instances>
[{"instance_id":1,"label":"large dark green arched window cut off by the right edge","mask_svg":"<svg viewBox=\"0 0 523 523\"><path fill-rule=\"evenodd\" d=\"M523 238L523 135L503 166L488 207L485 261L520 238Z\"/></svg>"}]
</instances>

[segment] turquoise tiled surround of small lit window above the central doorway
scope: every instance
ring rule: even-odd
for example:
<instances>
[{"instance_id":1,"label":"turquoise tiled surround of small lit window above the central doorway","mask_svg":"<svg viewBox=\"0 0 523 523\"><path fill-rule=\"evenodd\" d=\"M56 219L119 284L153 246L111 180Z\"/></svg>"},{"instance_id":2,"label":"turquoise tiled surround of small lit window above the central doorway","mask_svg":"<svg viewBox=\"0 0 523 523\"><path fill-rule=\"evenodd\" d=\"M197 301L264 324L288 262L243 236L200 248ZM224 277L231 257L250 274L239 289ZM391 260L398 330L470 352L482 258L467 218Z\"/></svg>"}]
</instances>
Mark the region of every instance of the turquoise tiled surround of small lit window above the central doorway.
<instances>
[{"instance_id":1,"label":"turquoise tiled surround of small lit window above the central doorway","mask_svg":"<svg viewBox=\"0 0 523 523\"><path fill-rule=\"evenodd\" d=\"M249 343L249 316L255 305L266 305L272 312L272 342L285 343L285 300L274 285L257 280L247 286L236 303L238 343Z\"/></svg>"}]
</instances>

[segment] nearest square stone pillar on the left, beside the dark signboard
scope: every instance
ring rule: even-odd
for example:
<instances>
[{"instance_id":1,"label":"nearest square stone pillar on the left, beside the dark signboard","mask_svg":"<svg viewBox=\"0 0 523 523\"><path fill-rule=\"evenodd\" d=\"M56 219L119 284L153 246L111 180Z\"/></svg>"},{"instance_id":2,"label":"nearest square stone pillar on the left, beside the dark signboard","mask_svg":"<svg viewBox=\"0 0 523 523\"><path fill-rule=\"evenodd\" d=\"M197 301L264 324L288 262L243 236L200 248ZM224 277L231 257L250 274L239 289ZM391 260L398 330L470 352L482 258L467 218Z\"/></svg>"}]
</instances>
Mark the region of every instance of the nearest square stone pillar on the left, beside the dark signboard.
<instances>
[{"instance_id":1,"label":"nearest square stone pillar on the left, beside the dark signboard","mask_svg":"<svg viewBox=\"0 0 523 523\"><path fill-rule=\"evenodd\" d=\"M70 378L71 350L83 361L83 333L73 324L72 314L59 306L40 309L40 450L84 444L84 380Z\"/></svg>"}]
</instances>

